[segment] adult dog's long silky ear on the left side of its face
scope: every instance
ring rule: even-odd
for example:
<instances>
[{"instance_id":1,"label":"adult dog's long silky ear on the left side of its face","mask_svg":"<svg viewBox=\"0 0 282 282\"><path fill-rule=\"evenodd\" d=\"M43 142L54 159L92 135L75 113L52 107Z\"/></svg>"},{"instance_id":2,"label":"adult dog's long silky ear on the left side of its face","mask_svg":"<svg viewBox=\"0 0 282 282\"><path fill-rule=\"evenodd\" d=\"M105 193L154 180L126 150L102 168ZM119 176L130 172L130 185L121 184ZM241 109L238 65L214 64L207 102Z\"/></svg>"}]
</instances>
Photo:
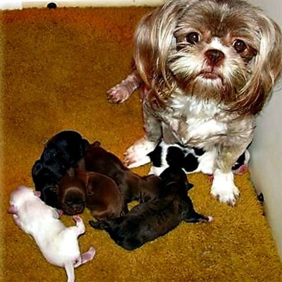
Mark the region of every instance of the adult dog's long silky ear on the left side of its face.
<instances>
[{"instance_id":1,"label":"adult dog's long silky ear on the left side of its face","mask_svg":"<svg viewBox=\"0 0 282 282\"><path fill-rule=\"evenodd\" d=\"M189 3L189 0L169 1L156 8L143 17L134 34L134 61L138 73L159 95L174 87L166 73L166 59L172 49L176 50L174 31Z\"/></svg>"}]
</instances>

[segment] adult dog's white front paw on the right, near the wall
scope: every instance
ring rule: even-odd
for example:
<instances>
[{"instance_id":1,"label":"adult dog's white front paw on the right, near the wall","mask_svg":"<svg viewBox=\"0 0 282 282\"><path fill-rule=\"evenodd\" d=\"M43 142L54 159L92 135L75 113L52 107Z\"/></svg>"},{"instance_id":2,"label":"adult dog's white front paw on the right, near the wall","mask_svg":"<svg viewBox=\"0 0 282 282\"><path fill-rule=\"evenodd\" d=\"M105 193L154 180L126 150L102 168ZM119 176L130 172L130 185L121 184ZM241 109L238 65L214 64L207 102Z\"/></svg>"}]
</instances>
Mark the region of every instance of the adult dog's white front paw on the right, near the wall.
<instances>
[{"instance_id":1,"label":"adult dog's white front paw on the right, near the wall","mask_svg":"<svg viewBox=\"0 0 282 282\"><path fill-rule=\"evenodd\" d=\"M211 194L220 202L234 206L240 192L234 184L233 173L222 173L220 170L216 170Z\"/></svg>"}]
</instances>

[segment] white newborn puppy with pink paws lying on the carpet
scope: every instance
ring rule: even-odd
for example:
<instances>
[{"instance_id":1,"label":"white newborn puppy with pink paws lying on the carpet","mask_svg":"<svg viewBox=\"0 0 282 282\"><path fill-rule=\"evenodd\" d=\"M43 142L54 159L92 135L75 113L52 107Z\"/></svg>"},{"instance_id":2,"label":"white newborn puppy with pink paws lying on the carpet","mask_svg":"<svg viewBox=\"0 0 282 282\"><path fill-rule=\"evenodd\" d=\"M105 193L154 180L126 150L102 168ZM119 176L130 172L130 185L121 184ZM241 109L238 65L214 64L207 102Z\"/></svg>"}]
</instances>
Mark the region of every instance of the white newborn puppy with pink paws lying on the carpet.
<instances>
[{"instance_id":1,"label":"white newborn puppy with pink paws lying on the carpet","mask_svg":"<svg viewBox=\"0 0 282 282\"><path fill-rule=\"evenodd\" d=\"M30 234L48 262L64 267L67 282L74 282L74 268L94 258L95 250L80 254L77 237L85 232L78 216L76 226L66 228L55 209L39 199L31 188L20 186L11 193L9 213L16 224Z\"/></svg>"}]
</instances>

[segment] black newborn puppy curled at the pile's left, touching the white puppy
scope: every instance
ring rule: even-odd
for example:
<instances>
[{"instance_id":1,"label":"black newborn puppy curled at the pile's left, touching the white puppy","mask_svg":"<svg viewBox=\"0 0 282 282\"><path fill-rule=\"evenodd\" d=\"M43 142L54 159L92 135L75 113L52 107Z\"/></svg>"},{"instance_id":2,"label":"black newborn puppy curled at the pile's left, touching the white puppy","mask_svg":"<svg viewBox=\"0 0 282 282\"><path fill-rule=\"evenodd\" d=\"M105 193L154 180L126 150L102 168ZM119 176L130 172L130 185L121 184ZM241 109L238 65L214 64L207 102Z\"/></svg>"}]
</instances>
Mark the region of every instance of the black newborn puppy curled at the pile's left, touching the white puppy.
<instances>
[{"instance_id":1,"label":"black newborn puppy curled at the pile's left, touching the white puppy","mask_svg":"<svg viewBox=\"0 0 282 282\"><path fill-rule=\"evenodd\" d=\"M47 205L62 209L56 185L83 157L88 146L89 142L73 130L61 131L47 141L31 170L35 190L41 192L40 198Z\"/></svg>"}]
</instances>

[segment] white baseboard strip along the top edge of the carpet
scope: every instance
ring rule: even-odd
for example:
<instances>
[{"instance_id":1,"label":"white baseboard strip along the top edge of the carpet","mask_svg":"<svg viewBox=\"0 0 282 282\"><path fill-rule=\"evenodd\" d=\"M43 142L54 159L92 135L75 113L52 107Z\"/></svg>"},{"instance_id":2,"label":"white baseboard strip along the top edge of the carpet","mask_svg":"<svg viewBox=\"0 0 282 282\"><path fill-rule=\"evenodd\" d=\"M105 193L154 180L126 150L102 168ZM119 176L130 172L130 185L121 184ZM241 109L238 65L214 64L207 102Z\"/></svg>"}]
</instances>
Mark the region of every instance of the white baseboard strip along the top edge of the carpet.
<instances>
[{"instance_id":1,"label":"white baseboard strip along the top edge of the carpet","mask_svg":"<svg viewBox=\"0 0 282 282\"><path fill-rule=\"evenodd\" d=\"M0 10L23 9L38 7L44 8L48 3L54 2L57 7L107 7L107 6L157 6L166 0L0 0Z\"/></svg>"}]
</instances>

